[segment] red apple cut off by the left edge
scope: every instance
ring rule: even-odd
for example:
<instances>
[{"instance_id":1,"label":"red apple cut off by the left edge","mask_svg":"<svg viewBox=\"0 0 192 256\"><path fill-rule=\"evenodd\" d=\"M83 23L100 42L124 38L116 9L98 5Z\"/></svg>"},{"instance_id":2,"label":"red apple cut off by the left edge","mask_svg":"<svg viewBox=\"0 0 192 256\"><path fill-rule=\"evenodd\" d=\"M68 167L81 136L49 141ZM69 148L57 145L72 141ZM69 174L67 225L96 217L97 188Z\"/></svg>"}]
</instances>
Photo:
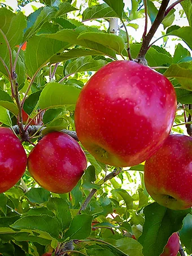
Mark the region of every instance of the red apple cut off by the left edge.
<instances>
[{"instance_id":1,"label":"red apple cut off by the left edge","mask_svg":"<svg viewBox=\"0 0 192 256\"><path fill-rule=\"evenodd\" d=\"M27 155L18 137L6 127L0 127L0 193L12 188L23 176Z\"/></svg>"}]
</instances>

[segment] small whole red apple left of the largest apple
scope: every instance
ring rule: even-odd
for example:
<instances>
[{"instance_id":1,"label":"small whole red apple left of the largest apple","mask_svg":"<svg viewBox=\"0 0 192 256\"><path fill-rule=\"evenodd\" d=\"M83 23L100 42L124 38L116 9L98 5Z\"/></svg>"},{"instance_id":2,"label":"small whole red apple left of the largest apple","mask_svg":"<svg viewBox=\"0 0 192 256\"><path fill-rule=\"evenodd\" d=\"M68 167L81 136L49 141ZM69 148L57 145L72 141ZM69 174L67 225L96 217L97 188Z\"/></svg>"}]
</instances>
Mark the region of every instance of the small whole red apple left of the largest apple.
<instances>
[{"instance_id":1,"label":"small whole red apple left of the largest apple","mask_svg":"<svg viewBox=\"0 0 192 256\"><path fill-rule=\"evenodd\" d=\"M84 174L87 162L80 145L63 132L46 134L30 151L28 170L51 192L68 193Z\"/></svg>"}]
</instances>

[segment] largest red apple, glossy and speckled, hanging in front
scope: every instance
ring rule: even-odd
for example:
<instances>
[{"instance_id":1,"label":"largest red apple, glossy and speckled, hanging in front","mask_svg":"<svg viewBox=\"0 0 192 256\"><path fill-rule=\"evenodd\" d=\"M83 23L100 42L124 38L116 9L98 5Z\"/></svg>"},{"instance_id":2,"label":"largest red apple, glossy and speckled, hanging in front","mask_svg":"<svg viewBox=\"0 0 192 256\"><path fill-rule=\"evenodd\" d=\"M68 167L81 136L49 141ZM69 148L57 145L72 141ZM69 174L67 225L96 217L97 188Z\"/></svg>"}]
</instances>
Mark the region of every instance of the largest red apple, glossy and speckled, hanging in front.
<instances>
[{"instance_id":1,"label":"largest red apple, glossy and speckled, hanging in front","mask_svg":"<svg viewBox=\"0 0 192 256\"><path fill-rule=\"evenodd\" d=\"M77 137L97 160L134 166L162 145L175 112L176 94L166 77L133 61L111 62L81 90Z\"/></svg>"}]
</instances>

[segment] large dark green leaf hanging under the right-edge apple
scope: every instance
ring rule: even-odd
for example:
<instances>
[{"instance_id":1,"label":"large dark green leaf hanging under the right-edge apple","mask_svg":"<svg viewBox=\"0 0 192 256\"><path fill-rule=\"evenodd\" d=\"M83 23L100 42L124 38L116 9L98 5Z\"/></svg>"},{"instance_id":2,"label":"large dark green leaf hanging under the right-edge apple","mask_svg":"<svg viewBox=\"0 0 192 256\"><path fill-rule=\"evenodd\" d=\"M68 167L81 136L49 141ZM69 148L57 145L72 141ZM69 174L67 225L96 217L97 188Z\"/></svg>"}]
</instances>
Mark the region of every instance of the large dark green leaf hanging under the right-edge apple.
<instances>
[{"instance_id":1,"label":"large dark green leaf hanging under the right-edge apple","mask_svg":"<svg viewBox=\"0 0 192 256\"><path fill-rule=\"evenodd\" d=\"M152 203L143 210L145 223L138 241L143 246L144 256L159 256L172 233L182 227L182 221L191 209L174 211L158 203Z\"/></svg>"}]
</instances>

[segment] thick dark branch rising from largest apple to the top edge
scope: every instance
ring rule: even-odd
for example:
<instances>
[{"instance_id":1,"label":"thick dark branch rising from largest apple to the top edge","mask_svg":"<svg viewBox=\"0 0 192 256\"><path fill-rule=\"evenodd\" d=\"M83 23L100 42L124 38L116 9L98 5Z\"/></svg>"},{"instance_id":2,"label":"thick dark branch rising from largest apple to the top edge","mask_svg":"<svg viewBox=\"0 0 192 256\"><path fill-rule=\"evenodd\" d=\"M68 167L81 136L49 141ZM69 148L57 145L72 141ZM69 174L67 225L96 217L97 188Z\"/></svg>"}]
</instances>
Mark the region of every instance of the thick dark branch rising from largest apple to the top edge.
<instances>
[{"instance_id":1,"label":"thick dark branch rising from largest apple to the top edge","mask_svg":"<svg viewBox=\"0 0 192 256\"><path fill-rule=\"evenodd\" d=\"M165 14L166 8L168 6L168 3L169 3L169 0L162 1L162 5L159 8L158 14L156 15L154 23L152 23L149 32L146 34L146 36L145 36L145 32L143 33L144 37L143 37L143 41L142 41L142 46L139 51L138 57L136 58L136 61L138 63L141 62L142 64L146 64L145 55L147 53L148 46L149 46L150 41L151 41L152 37L154 36L156 30L158 29L159 25L162 23L162 21L164 19L164 14Z\"/></svg>"}]
</instances>

